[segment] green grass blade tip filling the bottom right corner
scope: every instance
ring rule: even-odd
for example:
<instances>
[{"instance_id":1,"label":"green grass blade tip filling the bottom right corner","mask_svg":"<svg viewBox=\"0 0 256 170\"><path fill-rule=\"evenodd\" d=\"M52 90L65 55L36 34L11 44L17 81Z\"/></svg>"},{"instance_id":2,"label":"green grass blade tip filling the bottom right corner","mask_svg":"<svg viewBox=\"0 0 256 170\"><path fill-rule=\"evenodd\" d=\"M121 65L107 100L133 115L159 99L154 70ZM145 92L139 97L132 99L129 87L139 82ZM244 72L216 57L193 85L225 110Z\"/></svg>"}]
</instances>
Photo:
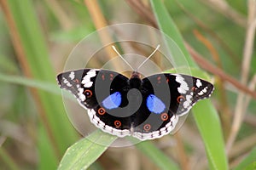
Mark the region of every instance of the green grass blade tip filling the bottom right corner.
<instances>
[{"instance_id":1,"label":"green grass blade tip filling the bottom right corner","mask_svg":"<svg viewBox=\"0 0 256 170\"><path fill-rule=\"evenodd\" d=\"M246 156L234 170L256 169L256 147Z\"/></svg>"}]
</instances>

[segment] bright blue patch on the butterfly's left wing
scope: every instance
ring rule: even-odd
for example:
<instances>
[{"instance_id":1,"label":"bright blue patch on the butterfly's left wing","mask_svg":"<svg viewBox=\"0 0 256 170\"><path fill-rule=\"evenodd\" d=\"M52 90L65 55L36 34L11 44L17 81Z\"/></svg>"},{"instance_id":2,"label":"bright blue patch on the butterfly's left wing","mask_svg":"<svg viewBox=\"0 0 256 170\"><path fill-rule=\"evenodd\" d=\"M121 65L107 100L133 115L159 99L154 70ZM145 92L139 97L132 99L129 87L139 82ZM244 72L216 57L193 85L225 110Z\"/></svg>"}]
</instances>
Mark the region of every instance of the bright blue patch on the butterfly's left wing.
<instances>
[{"instance_id":1,"label":"bright blue patch on the butterfly's left wing","mask_svg":"<svg viewBox=\"0 0 256 170\"><path fill-rule=\"evenodd\" d=\"M108 98L104 99L102 101L102 105L106 109L115 109L118 108L119 105L121 105L122 97L119 92L115 92L113 94L110 94Z\"/></svg>"}]
</instances>

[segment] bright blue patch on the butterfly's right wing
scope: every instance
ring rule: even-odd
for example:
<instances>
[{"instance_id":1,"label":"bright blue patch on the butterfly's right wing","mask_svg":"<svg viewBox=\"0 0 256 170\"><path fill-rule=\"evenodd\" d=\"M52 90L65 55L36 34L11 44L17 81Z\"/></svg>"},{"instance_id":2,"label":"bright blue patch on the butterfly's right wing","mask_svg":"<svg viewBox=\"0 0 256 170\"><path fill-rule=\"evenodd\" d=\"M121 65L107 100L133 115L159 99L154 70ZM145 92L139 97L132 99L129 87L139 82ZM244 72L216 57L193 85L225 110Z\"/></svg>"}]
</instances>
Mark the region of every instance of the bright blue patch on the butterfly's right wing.
<instances>
[{"instance_id":1,"label":"bright blue patch on the butterfly's right wing","mask_svg":"<svg viewBox=\"0 0 256 170\"><path fill-rule=\"evenodd\" d=\"M166 109L166 105L154 94L148 95L147 107L149 111L154 112L156 114L160 114Z\"/></svg>"}]
</instances>

